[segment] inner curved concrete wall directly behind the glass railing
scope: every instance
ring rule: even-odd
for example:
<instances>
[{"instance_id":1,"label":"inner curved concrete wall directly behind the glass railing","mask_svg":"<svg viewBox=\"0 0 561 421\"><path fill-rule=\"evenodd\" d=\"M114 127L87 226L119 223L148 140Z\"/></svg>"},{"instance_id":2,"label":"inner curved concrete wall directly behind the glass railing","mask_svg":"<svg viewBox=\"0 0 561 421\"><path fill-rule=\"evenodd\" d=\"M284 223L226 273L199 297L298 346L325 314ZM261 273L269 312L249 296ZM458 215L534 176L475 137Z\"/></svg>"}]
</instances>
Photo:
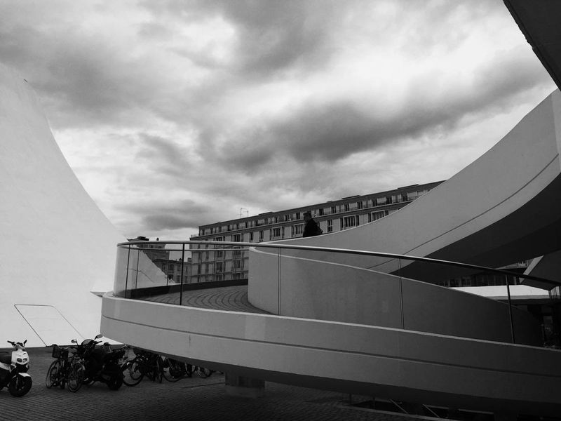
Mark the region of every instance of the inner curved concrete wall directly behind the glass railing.
<instances>
[{"instance_id":1,"label":"inner curved concrete wall directly behind the glass railing","mask_svg":"<svg viewBox=\"0 0 561 421\"><path fill-rule=\"evenodd\" d=\"M508 305L450 288L318 260L257 251L251 272L252 305L272 314L404 328L465 338L511 342ZM294 277L297 273L301 277ZM403 313L402 313L403 308ZM539 323L513 308L515 341L541 345Z\"/></svg>"}]
</instances>

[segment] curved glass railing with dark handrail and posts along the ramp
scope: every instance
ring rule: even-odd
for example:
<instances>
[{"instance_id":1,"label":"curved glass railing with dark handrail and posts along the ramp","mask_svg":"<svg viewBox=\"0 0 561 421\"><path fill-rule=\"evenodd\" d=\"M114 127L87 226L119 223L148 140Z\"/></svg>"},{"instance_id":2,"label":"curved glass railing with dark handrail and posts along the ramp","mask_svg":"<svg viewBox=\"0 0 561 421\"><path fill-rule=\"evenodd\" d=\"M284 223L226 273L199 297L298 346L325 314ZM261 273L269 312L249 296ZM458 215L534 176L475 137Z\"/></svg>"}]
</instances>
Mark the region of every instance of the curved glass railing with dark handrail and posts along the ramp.
<instances>
[{"instance_id":1,"label":"curved glass railing with dark handrail and posts along the ramp","mask_svg":"<svg viewBox=\"0 0 561 421\"><path fill-rule=\"evenodd\" d=\"M513 305L511 286L522 279L548 283L552 288L557 282L508 270L410 255L284 243L132 241L117 247L114 294L123 298L142 300L175 292L182 305L184 290L249 283L251 304L281 316L526 345L555 340L549 326ZM317 252L320 258L310 258L313 253L298 257L294 255L298 250ZM386 274L344 265L341 258L335 263L330 261L330 253L386 258L398 269ZM259 258L252 259L257 255ZM476 282L479 276L487 283L503 284L506 303L405 278L400 274L404 260L447 267L451 282L457 281L456 268L478 272L471 281ZM295 267L299 268L296 272ZM305 274L305 279L284 276L294 273ZM201 279L207 282L194 282Z\"/></svg>"}]
</instances>

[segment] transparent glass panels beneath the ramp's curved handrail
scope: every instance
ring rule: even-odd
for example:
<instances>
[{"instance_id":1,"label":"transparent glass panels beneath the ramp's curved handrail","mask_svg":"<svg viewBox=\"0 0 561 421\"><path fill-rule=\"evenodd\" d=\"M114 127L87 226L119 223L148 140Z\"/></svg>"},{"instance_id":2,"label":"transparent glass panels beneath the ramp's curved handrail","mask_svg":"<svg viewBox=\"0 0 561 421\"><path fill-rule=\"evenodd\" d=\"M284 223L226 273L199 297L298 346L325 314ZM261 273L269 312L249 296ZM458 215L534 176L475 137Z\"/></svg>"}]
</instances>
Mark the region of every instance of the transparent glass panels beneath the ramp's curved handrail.
<instances>
[{"instance_id":1,"label":"transparent glass panels beneath the ramp's curved handrail","mask_svg":"<svg viewBox=\"0 0 561 421\"><path fill-rule=\"evenodd\" d=\"M114 293L182 305L188 290L245 285L250 246L266 254L259 263L268 274L266 312L559 346L559 288L543 290L546 304L537 309L520 300L522 274L390 253L229 241L122 243ZM328 305L326 297L332 299ZM543 309L547 302L553 303L550 314ZM350 309L356 303L363 307L355 317ZM538 313L545 314L540 321Z\"/></svg>"}]
</instances>

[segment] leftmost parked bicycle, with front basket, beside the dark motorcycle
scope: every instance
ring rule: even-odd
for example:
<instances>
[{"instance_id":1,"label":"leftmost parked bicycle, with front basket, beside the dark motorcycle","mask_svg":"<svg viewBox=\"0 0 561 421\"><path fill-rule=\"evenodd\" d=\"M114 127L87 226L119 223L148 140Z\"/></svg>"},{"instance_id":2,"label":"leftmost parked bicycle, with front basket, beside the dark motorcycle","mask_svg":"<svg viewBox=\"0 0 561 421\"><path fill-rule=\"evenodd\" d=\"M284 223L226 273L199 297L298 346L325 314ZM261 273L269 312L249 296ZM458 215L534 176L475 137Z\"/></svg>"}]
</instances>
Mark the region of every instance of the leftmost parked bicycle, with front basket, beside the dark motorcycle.
<instances>
[{"instance_id":1,"label":"leftmost parked bicycle, with front basket, beside the dark motorcycle","mask_svg":"<svg viewBox=\"0 0 561 421\"><path fill-rule=\"evenodd\" d=\"M67 387L70 392L78 392L80 389L85 369L81 357L76 352L69 354L70 349L76 347L53 345L52 356L56 360L50 364L45 379L45 385L49 389L53 386L60 389Z\"/></svg>"}]
</instances>

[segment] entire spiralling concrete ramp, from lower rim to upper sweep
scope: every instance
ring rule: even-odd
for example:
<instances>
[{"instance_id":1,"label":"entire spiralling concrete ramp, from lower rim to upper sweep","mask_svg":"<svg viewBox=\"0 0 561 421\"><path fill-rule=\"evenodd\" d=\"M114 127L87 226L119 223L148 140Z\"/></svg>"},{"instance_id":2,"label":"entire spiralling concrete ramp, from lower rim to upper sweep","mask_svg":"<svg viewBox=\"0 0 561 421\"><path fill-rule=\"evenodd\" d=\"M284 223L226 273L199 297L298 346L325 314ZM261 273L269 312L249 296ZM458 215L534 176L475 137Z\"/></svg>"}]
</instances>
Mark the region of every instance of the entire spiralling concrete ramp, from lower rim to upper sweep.
<instances>
[{"instance_id":1,"label":"entire spiralling concrete ramp, from lower rim to upper sweep","mask_svg":"<svg viewBox=\"0 0 561 421\"><path fill-rule=\"evenodd\" d=\"M560 149L555 91L487 154L391 216L286 243L490 267L554 256L561 249ZM561 352L508 343L505 305L431 285L461 272L402 266L399 277L396 260L257 247L248 295L273 314L109 293L102 333L258 379L452 408L561 413ZM532 343L531 316L513 318L515 336Z\"/></svg>"}]
</instances>

